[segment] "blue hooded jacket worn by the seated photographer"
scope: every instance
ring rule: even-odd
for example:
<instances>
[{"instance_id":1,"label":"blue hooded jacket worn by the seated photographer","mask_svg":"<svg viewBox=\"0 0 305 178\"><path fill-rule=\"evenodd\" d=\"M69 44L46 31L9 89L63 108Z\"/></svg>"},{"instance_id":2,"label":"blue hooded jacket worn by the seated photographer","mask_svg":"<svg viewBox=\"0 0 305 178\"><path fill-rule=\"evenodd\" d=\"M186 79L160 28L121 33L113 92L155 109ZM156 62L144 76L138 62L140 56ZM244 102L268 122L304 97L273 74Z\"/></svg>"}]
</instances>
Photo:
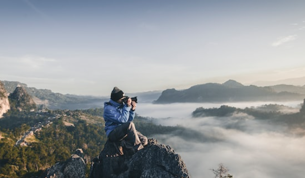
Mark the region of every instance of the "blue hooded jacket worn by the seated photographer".
<instances>
[{"instance_id":1,"label":"blue hooded jacket worn by the seated photographer","mask_svg":"<svg viewBox=\"0 0 305 178\"><path fill-rule=\"evenodd\" d=\"M132 121L135 118L135 112L125 104L119 104L110 99L109 102L104 103L104 120L105 131L108 136L109 133L123 123Z\"/></svg>"}]
</instances>

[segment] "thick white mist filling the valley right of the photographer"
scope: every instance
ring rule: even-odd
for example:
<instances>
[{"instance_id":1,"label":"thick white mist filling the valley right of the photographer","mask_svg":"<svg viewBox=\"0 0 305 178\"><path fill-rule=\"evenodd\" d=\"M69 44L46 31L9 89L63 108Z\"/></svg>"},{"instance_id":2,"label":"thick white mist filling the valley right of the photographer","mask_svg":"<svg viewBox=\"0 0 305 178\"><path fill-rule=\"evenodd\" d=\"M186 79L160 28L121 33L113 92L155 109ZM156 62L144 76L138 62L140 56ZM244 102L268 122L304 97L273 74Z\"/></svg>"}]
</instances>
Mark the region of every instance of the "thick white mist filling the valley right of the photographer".
<instances>
[{"instance_id":1,"label":"thick white mist filling the valley right of the photographer","mask_svg":"<svg viewBox=\"0 0 305 178\"><path fill-rule=\"evenodd\" d=\"M291 107L283 112L294 113L299 111L302 103L139 103L137 113L151 117L156 124L187 128L153 137L170 145L182 156L192 177L214 177L210 169L216 169L219 163L228 167L228 173L233 177L304 177L305 136L295 134L292 128L257 120L245 113L226 117L192 117L192 112L198 107L227 105L245 108L279 104Z\"/></svg>"}]
</instances>

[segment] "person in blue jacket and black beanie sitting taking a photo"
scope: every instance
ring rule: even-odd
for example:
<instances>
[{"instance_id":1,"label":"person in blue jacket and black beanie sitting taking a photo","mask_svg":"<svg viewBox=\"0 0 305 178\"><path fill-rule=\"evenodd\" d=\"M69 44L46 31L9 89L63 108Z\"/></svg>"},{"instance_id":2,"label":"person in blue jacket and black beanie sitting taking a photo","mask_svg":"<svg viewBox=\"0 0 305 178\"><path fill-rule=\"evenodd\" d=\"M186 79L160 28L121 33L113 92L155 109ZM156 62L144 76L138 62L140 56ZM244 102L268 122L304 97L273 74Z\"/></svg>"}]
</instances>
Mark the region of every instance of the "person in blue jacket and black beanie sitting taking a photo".
<instances>
[{"instance_id":1,"label":"person in blue jacket and black beanie sitting taking a photo","mask_svg":"<svg viewBox=\"0 0 305 178\"><path fill-rule=\"evenodd\" d=\"M133 154L147 145L147 137L137 131L132 122L137 103L131 101L131 98L124 100L124 92L114 87L110 101L104 103L105 131L109 141L120 142L120 146ZM122 150L119 151L121 155L124 154Z\"/></svg>"}]
</instances>

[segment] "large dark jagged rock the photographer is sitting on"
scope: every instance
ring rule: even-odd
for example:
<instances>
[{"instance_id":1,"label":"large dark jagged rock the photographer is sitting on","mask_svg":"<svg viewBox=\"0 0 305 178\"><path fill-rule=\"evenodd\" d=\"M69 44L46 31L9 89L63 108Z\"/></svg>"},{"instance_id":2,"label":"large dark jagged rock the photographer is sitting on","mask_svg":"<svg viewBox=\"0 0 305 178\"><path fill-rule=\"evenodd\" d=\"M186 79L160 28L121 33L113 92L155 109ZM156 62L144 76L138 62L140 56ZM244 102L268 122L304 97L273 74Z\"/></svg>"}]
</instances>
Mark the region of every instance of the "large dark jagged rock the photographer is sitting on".
<instances>
[{"instance_id":1,"label":"large dark jagged rock the photographer is sitting on","mask_svg":"<svg viewBox=\"0 0 305 178\"><path fill-rule=\"evenodd\" d=\"M181 156L157 140L149 139L148 145L134 155L119 156L115 146L106 142L99 157L93 160L90 178L98 177L190 177Z\"/></svg>"}]
</instances>

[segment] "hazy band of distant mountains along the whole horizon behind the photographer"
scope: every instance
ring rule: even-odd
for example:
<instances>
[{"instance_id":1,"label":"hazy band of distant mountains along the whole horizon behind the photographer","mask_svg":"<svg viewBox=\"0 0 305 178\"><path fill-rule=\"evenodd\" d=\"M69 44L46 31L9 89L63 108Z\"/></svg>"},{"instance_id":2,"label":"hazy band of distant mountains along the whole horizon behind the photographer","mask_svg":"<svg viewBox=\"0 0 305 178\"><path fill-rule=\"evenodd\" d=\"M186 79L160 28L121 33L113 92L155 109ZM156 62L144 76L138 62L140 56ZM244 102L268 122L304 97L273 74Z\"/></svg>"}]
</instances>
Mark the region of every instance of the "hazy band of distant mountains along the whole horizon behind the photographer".
<instances>
[{"instance_id":1,"label":"hazy band of distant mountains along the whole horizon behind the photographer","mask_svg":"<svg viewBox=\"0 0 305 178\"><path fill-rule=\"evenodd\" d=\"M48 89L28 87L20 82L2 81L8 93L17 86L22 86L33 97L39 106L49 109L89 109L101 108L109 97L80 96L54 93ZM223 84L207 83L195 85L185 90L167 89L140 93L126 93L128 96L138 96L139 102L179 103L179 102L243 102L243 101L283 101L301 100L305 97L305 86L274 85L259 87L245 86L234 80Z\"/></svg>"}]
</instances>

